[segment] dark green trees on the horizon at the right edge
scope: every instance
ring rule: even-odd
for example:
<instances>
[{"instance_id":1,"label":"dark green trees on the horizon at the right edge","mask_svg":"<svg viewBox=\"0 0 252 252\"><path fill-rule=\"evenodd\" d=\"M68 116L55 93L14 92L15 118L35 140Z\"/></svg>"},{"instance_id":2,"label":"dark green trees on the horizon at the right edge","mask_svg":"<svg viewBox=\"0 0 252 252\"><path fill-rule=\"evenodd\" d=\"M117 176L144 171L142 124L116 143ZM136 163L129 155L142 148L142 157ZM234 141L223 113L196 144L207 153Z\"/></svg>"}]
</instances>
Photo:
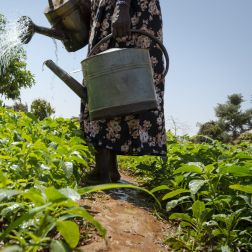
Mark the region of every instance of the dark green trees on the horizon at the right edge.
<instances>
[{"instance_id":1,"label":"dark green trees on the horizon at the right edge","mask_svg":"<svg viewBox=\"0 0 252 252\"><path fill-rule=\"evenodd\" d=\"M226 103L218 104L215 108L217 121L201 124L198 135L230 142L252 129L252 108L242 111L243 102L241 94L229 95Z\"/></svg>"}]
</instances>

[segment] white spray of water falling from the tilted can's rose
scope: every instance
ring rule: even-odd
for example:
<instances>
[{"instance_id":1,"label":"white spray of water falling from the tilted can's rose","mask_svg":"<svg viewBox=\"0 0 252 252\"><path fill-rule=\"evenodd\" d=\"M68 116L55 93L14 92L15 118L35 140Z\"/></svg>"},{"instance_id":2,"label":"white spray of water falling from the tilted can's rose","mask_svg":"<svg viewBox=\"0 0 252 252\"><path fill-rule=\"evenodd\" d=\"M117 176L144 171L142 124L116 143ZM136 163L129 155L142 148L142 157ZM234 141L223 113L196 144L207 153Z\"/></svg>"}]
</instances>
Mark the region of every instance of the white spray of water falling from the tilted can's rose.
<instances>
[{"instance_id":1,"label":"white spray of water falling from the tilted can's rose","mask_svg":"<svg viewBox=\"0 0 252 252\"><path fill-rule=\"evenodd\" d=\"M0 26L0 74L4 74L11 61L22 48L22 36L27 32L25 21L7 22Z\"/></svg>"}]
</instances>

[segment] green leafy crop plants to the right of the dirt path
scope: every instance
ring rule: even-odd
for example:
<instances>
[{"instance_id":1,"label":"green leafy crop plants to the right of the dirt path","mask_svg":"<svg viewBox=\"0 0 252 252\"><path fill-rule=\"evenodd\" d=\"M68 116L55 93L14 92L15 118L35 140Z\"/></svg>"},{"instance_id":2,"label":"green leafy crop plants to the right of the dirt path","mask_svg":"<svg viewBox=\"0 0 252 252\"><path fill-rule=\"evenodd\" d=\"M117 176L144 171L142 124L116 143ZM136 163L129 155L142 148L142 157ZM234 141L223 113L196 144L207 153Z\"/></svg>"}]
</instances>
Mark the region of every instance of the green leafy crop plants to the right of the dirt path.
<instances>
[{"instance_id":1,"label":"green leafy crop plants to the right of the dirt path","mask_svg":"<svg viewBox=\"0 0 252 252\"><path fill-rule=\"evenodd\" d=\"M223 144L168 133L167 158L121 157L179 223L173 251L252 250L252 144Z\"/></svg>"}]
</instances>

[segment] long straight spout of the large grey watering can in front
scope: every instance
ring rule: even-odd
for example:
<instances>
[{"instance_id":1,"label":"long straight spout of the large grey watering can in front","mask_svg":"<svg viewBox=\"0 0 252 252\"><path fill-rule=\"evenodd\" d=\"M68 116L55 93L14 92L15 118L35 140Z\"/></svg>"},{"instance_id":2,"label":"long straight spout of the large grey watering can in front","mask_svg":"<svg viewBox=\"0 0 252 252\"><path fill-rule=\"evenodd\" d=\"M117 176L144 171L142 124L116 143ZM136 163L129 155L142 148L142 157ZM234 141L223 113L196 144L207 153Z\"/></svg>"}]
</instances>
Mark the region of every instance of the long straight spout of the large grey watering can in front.
<instances>
[{"instance_id":1,"label":"long straight spout of the large grey watering can in front","mask_svg":"<svg viewBox=\"0 0 252 252\"><path fill-rule=\"evenodd\" d=\"M56 74L69 88L74 91L84 102L87 100L86 88L71 77L66 71L57 66L52 60L46 60L44 64Z\"/></svg>"}]
</instances>

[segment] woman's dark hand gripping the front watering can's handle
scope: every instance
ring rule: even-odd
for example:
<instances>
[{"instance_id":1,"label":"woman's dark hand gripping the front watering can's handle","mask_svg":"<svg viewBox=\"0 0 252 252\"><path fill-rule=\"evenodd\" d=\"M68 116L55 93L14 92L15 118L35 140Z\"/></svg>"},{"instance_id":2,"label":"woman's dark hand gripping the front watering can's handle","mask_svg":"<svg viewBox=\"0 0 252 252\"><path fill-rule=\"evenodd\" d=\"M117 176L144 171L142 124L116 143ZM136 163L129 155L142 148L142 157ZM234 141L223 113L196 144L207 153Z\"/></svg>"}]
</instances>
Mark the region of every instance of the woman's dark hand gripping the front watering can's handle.
<instances>
[{"instance_id":1,"label":"woman's dark hand gripping the front watering can's handle","mask_svg":"<svg viewBox=\"0 0 252 252\"><path fill-rule=\"evenodd\" d=\"M125 2L127 4L116 4L112 17L112 34L115 39L123 39L130 35L130 1Z\"/></svg>"}]
</instances>

